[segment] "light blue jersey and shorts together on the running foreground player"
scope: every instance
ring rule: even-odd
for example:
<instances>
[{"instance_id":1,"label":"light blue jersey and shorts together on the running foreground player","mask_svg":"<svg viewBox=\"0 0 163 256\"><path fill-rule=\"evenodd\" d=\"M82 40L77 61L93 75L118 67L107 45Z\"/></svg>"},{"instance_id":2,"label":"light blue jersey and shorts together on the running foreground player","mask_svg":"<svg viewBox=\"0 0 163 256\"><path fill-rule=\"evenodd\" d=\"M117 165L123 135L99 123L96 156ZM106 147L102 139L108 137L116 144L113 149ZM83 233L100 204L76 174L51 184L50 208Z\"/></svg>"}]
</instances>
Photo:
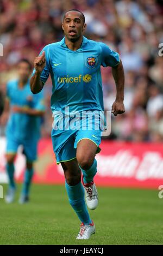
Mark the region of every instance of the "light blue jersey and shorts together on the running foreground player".
<instances>
[{"instance_id":1,"label":"light blue jersey and shorts together on the running foreground player","mask_svg":"<svg viewBox=\"0 0 163 256\"><path fill-rule=\"evenodd\" d=\"M80 115L82 112L83 115L84 111L104 110L101 66L115 67L120 63L117 52L110 50L104 43L85 37L77 51L68 49L65 38L46 45L42 51L45 51L46 66L40 77L44 84L49 74L52 78L51 109L55 123L62 123L62 120L64 124L67 123L67 114L70 117L69 123L75 120L72 113L78 112ZM88 120L89 116L82 117L82 127L79 124L75 129L70 128L70 125L68 129L65 126L63 129L55 129L53 126L52 142L58 164L76 158L77 144L82 139L92 140L97 145L96 153L100 151L103 129L95 129L98 118L89 129Z\"/></svg>"}]
</instances>

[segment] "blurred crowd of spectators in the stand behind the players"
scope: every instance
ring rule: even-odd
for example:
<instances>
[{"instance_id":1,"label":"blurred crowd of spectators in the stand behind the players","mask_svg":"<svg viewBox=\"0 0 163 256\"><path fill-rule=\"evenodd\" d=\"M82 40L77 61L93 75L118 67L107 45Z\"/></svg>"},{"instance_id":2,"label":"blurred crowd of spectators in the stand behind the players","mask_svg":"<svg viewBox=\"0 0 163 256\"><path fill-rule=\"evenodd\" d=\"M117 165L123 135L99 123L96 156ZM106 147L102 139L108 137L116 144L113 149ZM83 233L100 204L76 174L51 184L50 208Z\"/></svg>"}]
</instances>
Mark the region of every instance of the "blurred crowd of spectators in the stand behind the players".
<instances>
[{"instance_id":1,"label":"blurred crowd of spectators in the stand behind the players","mask_svg":"<svg viewBox=\"0 0 163 256\"><path fill-rule=\"evenodd\" d=\"M0 0L0 43L4 46L0 90L5 92L6 82L16 77L18 59L26 57L33 63L43 46L62 39L61 17L72 8L85 15L85 36L119 52L124 66L126 112L112 116L109 138L163 141L163 44L162 50L159 48L163 43L162 1ZM116 92L111 68L102 68L102 79L104 106L110 110ZM48 79L43 137L51 135L51 91ZM1 120L0 127L3 135L5 123Z\"/></svg>"}]
</instances>

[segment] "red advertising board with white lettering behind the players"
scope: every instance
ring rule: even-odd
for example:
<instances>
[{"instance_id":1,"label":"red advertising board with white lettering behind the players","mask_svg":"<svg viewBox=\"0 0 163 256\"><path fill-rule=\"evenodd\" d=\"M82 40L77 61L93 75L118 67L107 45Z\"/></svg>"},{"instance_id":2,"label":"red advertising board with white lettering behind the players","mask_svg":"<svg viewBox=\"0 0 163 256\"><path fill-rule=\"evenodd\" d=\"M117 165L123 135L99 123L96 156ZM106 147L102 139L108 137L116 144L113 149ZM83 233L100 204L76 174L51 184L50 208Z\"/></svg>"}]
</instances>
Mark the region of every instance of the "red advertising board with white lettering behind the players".
<instances>
[{"instance_id":1,"label":"red advertising board with white lettering behind the players","mask_svg":"<svg viewBox=\"0 0 163 256\"><path fill-rule=\"evenodd\" d=\"M96 155L97 185L158 188L163 184L163 144L102 141L101 148L101 152ZM2 154L0 161L1 183L5 171ZM17 181L22 181L25 159L21 153L18 153L15 166ZM34 182L65 182L61 165L55 162L51 139L42 139L39 142Z\"/></svg>"}]
</instances>

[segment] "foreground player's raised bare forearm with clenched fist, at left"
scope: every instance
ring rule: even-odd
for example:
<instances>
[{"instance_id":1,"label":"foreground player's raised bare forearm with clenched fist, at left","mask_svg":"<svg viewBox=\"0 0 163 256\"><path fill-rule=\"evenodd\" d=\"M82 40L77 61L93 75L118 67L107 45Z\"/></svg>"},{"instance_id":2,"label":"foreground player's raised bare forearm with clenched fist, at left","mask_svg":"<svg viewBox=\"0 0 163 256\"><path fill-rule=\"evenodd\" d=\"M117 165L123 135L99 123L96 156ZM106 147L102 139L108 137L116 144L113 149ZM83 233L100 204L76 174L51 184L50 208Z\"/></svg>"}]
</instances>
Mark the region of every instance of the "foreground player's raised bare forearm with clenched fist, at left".
<instances>
[{"instance_id":1,"label":"foreground player's raised bare forearm with clenched fist, at left","mask_svg":"<svg viewBox=\"0 0 163 256\"><path fill-rule=\"evenodd\" d=\"M40 79L41 72L43 68L46 66L46 58L45 58L45 51L42 52L40 56L37 56L34 59L34 68L35 74L30 79L30 90L32 93L36 94L41 92L43 88L43 82Z\"/></svg>"}]
</instances>

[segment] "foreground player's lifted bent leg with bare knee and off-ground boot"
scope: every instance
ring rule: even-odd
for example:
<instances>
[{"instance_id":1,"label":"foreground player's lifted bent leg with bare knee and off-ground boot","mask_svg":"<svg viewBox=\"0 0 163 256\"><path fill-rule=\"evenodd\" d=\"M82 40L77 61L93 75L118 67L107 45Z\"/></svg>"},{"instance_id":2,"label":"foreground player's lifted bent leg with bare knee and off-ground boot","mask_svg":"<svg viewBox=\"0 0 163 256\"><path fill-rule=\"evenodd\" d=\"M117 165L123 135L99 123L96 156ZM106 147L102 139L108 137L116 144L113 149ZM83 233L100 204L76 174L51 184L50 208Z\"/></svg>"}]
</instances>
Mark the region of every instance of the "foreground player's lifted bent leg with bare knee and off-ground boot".
<instances>
[{"instance_id":1,"label":"foreground player's lifted bent leg with bare knee and off-ground boot","mask_svg":"<svg viewBox=\"0 0 163 256\"><path fill-rule=\"evenodd\" d=\"M83 172L85 199L90 210L95 210L98 205L98 193L93 181L97 172L97 148L95 142L90 139L82 139L77 144L77 161Z\"/></svg>"}]
</instances>

